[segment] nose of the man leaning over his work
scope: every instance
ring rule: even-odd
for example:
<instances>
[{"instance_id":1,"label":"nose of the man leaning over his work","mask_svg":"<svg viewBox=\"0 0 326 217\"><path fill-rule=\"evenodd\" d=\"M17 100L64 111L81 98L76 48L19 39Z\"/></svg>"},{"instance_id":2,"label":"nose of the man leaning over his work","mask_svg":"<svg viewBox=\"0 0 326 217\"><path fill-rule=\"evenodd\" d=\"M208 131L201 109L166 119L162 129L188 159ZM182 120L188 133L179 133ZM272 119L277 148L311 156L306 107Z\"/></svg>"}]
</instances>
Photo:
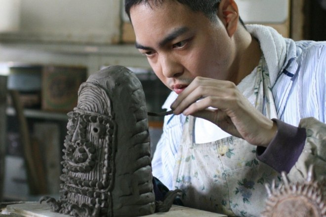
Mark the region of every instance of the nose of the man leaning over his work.
<instances>
[{"instance_id":1,"label":"nose of the man leaning over his work","mask_svg":"<svg viewBox=\"0 0 326 217\"><path fill-rule=\"evenodd\" d=\"M160 62L165 77L177 77L182 74L182 65L174 57L164 55L160 58Z\"/></svg>"}]
</instances>

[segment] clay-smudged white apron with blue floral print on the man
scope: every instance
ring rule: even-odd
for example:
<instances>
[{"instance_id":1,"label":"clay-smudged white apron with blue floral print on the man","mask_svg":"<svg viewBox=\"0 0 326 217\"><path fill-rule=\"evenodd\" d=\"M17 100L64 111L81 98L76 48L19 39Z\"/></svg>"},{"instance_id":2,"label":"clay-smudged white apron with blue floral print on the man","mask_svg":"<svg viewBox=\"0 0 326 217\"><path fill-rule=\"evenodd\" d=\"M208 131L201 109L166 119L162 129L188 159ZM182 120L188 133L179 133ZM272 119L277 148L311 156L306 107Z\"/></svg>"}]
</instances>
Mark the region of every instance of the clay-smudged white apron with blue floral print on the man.
<instances>
[{"instance_id":1,"label":"clay-smudged white apron with blue floral print on the man","mask_svg":"<svg viewBox=\"0 0 326 217\"><path fill-rule=\"evenodd\" d=\"M267 66L262 57L254 86L255 107L277 118ZM265 103L265 105L264 105ZM279 180L278 173L256 159L256 146L230 136L195 144L195 118L188 116L173 174L187 207L228 216L260 216L265 208L265 183Z\"/></svg>"}]
</instances>

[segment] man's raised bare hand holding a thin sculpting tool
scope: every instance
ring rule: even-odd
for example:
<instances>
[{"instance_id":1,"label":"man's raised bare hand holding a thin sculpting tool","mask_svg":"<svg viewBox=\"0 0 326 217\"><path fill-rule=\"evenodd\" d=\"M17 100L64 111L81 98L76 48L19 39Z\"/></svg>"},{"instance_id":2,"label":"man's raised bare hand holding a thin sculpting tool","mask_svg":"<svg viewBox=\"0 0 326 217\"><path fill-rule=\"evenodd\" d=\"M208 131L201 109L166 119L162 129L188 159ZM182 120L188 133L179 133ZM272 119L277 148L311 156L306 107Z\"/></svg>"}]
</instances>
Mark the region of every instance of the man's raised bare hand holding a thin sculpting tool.
<instances>
[{"instance_id":1,"label":"man's raised bare hand holding a thin sculpting tool","mask_svg":"<svg viewBox=\"0 0 326 217\"><path fill-rule=\"evenodd\" d=\"M216 109L207 109L209 107ZM171 108L175 114L211 121L252 145L267 147L277 132L276 123L255 109L230 81L196 77L179 94Z\"/></svg>"}]
</instances>

